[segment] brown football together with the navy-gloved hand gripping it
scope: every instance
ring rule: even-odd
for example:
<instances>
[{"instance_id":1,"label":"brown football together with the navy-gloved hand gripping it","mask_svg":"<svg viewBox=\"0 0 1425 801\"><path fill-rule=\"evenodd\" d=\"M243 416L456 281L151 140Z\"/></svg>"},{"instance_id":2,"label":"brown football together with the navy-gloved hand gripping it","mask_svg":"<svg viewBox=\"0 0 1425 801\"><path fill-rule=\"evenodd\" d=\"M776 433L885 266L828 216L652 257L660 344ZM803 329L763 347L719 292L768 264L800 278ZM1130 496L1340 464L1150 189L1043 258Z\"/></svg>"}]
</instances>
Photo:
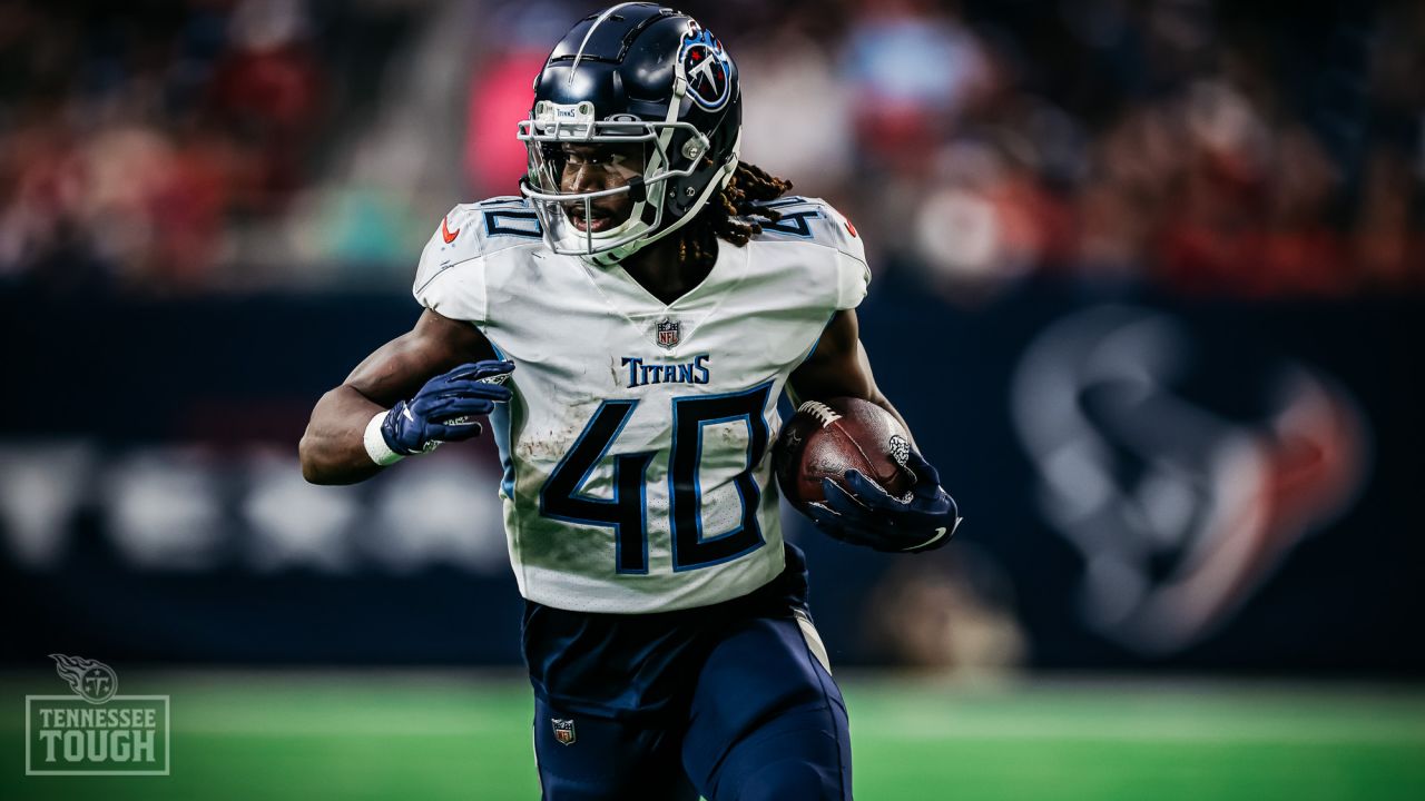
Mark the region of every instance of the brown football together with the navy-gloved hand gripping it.
<instances>
[{"instance_id":1,"label":"brown football together with the navy-gloved hand gripping it","mask_svg":"<svg viewBox=\"0 0 1425 801\"><path fill-rule=\"evenodd\" d=\"M921 553L960 523L940 475L889 412L858 398L808 400L777 439L777 482L826 534L882 552Z\"/></svg>"}]
</instances>

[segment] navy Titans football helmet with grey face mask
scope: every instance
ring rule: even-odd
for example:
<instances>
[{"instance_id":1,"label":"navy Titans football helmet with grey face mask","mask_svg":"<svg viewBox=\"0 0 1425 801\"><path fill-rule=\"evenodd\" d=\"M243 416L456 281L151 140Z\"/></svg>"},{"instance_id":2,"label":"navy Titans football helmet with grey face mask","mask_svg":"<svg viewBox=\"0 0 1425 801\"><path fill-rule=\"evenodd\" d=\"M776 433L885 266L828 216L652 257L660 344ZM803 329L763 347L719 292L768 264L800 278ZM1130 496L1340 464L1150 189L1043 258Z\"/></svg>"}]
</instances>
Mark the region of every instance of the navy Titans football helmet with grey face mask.
<instances>
[{"instance_id":1,"label":"navy Titans football helmet with grey face mask","mask_svg":"<svg viewBox=\"0 0 1425 801\"><path fill-rule=\"evenodd\" d=\"M534 78L534 107L519 124L529 148L520 191L554 252L617 264L727 185L741 135L742 91L722 43L673 9L620 3L580 20ZM589 145L643 157L621 160L604 188L564 191L570 154ZM594 201L620 194L628 217L596 229Z\"/></svg>"}]
</instances>

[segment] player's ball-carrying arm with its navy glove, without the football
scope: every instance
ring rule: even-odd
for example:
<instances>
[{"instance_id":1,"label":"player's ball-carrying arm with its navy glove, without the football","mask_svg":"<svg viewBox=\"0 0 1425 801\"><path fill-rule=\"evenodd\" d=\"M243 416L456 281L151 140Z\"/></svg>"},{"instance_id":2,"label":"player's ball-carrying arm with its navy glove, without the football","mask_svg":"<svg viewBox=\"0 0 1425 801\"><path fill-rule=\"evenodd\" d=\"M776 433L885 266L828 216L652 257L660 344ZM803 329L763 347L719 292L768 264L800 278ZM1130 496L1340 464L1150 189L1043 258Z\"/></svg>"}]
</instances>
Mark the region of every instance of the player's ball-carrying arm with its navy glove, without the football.
<instances>
[{"instance_id":1,"label":"player's ball-carrying arm with its navy glove, without the football","mask_svg":"<svg viewBox=\"0 0 1425 801\"><path fill-rule=\"evenodd\" d=\"M836 312L788 383L798 402L859 398L901 420L906 433L911 430L876 388L852 309ZM819 529L852 544L908 553L942 547L959 526L959 507L940 486L939 472L915 448L913 438L905 467L915 476L905 497L893 497L858 470L846 470L845 486L824 480L826 502L809 505L807 513Z\"/></svg>"}]
</instances>

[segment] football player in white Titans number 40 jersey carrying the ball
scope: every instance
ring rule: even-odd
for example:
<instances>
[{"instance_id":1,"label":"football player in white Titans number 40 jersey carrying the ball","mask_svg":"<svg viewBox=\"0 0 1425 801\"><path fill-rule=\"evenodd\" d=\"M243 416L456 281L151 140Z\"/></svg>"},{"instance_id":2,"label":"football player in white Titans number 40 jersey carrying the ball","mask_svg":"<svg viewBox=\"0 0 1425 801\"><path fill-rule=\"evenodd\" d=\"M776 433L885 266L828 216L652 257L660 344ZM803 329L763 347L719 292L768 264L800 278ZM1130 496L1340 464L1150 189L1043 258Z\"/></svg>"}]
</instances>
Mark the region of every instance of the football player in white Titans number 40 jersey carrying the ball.
<instances>
[{"instance_id":1,"label":"football player in white Titans number 40 jersey carrying the ball","mask_svg":"<svg viewBox=\"0 0 1425 801\"><path fill-rule=\"evenodd\" d=\"M895 413L856 331L862 242L738 161L737 67L685 14L591 14L534 88L522 195L440 221L415 329L322 396L302 472L358 482L489 415L546 798L849 798L845 706L770 443L784 391ZM905 499L828 480L815 523L943 546L955 503L908 465Z\"/></svg>"}]
</instances>

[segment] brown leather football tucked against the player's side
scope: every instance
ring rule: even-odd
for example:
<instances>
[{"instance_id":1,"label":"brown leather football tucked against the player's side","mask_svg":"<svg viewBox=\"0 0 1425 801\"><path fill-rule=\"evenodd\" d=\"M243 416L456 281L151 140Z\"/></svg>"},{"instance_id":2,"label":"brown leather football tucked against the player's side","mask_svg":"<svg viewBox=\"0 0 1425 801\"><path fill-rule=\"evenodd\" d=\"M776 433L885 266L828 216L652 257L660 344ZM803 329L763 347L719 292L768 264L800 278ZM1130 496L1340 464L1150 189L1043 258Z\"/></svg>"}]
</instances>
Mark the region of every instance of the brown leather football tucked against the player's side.
<instances>
[{"instance_id":1,"label":"brown leather football tucked against the player's side","mask_svg":"<svg viewBox=\"0 0 1425 801\"><path fill-rule=\"evenodd\" d=\"M774 470L782 495L804 509L825 500L821 480L846 486L846 470L861 470L895 497L915 483L906 469L911 438L889 412L859 398L802 403L782 428L774 450Z\"/></svg>"}]
</instances>

